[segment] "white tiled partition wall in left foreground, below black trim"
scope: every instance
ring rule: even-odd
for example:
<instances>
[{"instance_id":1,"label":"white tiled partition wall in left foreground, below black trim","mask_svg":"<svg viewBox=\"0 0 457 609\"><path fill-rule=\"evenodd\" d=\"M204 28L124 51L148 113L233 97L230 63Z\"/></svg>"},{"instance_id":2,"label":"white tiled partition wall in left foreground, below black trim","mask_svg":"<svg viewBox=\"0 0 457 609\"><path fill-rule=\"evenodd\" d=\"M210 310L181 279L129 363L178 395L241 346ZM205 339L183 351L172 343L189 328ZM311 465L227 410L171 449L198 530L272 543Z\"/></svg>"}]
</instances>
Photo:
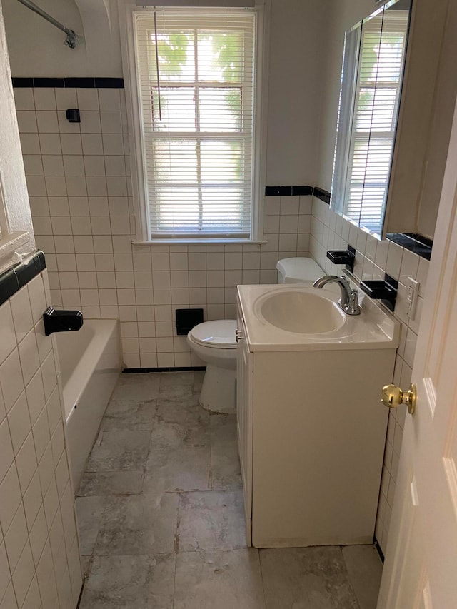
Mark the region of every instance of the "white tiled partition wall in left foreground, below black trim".
<instances>
[{"instance_id":1,"label":"white tiled partition wall in left foreground, below black trim","mask_svg":"<svg viewBox=\"0 0 457 609\"><path fill-rule=\"evenodd\" d=\"M75 608L82 585L47 274L0 306L1 609Z\"/></svg>"}]
</instances>

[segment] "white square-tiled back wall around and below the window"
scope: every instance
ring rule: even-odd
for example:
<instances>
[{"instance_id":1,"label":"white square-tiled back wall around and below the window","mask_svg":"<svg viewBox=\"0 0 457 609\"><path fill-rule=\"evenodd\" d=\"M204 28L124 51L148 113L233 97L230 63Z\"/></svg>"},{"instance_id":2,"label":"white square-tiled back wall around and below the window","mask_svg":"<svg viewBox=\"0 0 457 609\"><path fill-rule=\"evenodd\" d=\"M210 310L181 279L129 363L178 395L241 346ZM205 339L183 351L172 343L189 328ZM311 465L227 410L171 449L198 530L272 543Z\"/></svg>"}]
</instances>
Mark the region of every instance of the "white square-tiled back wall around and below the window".
<instances>
[{"instance_id":1,"label":"white square-tiled back wall around and below the window","mask_svg":"<svg viewBox=\"0 0 457 609\"><path fill-rule=\"evenodd\" d=\"M238 283L276 283L279 258L307 255L309 196L266 198L265 245L132 246L124 90L16 89L15 99L52 303L119 316L126 366L198 366L174 310L234 318ZM66 108L80 109L81 124Z\"/></svg>"}]
</instances>

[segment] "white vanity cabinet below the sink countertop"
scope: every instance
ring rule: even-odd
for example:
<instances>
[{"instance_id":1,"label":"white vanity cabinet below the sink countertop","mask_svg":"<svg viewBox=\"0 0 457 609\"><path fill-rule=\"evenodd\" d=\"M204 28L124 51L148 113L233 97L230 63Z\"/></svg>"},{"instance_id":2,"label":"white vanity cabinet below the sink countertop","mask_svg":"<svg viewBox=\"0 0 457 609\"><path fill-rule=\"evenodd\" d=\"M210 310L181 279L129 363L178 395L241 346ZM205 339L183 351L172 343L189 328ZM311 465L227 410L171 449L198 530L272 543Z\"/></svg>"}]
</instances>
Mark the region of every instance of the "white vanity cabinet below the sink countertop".
<instances>
[{"instance_id":1,"label":"white vanity cabinet below the sink countertop","mask_svg":"<svg viewBox=\"0 0 457 609\"><path fill-rule=\"evenodd\" d=\"M241 301L237 418L248 545L372 543L388 421L380 394L393 377L395 341L277 350L253 340ZM247 299L244 313L251 307Z\"/></svg>"}]
</instances>

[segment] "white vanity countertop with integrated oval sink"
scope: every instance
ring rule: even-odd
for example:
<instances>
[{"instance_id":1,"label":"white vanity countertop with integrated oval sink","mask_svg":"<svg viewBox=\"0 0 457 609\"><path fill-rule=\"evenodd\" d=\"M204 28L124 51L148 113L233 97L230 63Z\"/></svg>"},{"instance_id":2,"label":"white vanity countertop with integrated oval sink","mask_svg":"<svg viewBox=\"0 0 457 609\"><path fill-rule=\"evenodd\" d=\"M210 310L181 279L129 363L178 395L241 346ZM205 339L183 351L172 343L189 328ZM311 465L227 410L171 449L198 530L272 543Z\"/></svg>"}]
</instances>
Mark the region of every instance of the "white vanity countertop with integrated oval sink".
<instances>
[{"instance_id":1,"label":"white vanity countertop with integrated oval sink","mask_svg":"<svg viewBox=\"0 0 457 609\"><path fill-rule=\"evenodd\" d=\"M251 351L396 348L399 326L363 292L361 314L338 306L338 291L302 283L238 286Z\"/></svg>"}]
</instances>

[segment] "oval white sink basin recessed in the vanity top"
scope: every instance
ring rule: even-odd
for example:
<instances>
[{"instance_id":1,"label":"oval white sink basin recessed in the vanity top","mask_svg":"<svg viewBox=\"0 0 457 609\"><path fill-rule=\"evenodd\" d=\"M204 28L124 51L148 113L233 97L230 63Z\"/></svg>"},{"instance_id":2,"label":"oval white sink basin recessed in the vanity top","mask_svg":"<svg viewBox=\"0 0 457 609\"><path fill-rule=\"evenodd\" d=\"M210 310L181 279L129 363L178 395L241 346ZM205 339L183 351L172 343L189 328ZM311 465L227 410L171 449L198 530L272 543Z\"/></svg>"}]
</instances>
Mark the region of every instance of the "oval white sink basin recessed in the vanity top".
<instances>
[{"instance_id":1,"label":"oval white sink basin recessed in the vanity top","mask_svg":"<svg viewBox=\"0 0 457 609\"><path fill-rule=\"evenodd\" d=\"M343 326L345 313L320 290L267 293L256 303L256 312L276 328L301 334L321 334Z\"/></svg>"}]
</instances>

